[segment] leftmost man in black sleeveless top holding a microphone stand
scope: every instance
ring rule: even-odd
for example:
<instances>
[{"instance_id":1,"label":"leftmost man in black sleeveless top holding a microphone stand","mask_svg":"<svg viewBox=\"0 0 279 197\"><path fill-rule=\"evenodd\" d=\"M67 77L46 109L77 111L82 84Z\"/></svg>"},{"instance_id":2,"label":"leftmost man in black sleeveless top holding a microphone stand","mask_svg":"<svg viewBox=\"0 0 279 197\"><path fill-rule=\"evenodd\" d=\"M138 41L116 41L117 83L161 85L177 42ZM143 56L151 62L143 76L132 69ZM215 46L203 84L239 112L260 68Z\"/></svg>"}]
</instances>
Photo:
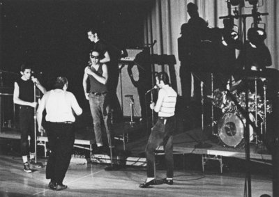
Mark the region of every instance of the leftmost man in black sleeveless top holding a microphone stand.
<instances>
[{"instance_id":1,"label":"leftmost man in black sleeveless top holding a microphone stand","mask_svg":"<svg viewBox=\"0 0 279 197\"><path fill-rule=\"evenodd\" d=\"M20 105L19 119L20 119L20 146L22 150L22 160L24 164L24 172L31 173L28 163L28 155L30 153L30 163L35 164L35 137L34 137L34 110L37 106L34 100L34 84L42 92L45 93L45 88L40 84L37 78L31 78L31 66L23 64L21 66L20 74L22 77L15 81L15 88L13 92L13 102ZM30 136L30 146L28 142ZM37 168L42 166L36 165Z\"/></svg>"}]
</instances>

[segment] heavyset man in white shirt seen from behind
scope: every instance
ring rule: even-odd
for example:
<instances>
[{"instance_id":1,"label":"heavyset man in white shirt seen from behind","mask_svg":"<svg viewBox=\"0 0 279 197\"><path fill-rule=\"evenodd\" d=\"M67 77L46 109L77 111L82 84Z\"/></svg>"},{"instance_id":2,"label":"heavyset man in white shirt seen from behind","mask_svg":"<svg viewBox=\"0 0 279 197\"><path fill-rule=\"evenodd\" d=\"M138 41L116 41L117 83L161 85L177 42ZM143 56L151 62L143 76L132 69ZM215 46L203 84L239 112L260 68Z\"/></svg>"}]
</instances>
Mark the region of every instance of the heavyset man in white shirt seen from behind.
<instances>
[{"instance_id":1,"label":"heavyset man in white shirt seen from behind","mask_svg":"<svg viewBox=\"0 0 279 197\"><path fill-rule=\"evenodd\" d=\"M50 157L47 160L46 178L50 179L52 190L66 189L63 184L75 142L75 116L82 114L82 109L73 93L67 91L66 77L57 77L54 89L45 93L37 110L39 131L43 130L43 111L46 110L45 129L50 145Z\"/></svg>"}]
</instances>

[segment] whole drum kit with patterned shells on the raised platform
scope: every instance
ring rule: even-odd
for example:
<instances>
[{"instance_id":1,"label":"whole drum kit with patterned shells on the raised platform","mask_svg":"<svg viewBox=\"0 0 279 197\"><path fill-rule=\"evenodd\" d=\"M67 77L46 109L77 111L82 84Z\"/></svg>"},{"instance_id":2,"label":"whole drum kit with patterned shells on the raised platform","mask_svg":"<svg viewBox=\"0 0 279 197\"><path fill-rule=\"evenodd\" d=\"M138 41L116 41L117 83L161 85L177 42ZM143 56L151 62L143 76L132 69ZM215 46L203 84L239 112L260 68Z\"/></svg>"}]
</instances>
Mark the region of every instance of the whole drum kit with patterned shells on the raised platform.
<instances>
[{"instance_id":1,"label":"whole drum kit with patterned shells on the raised platform","mask_svg":"<svg viewBox=\"0 0 279 197\"><path fill-rule=\"evenodd\" d=\"M246 79L248 84L249 82L252 84L252 88L247 91L248 102L246 102L246 91L234 84L233 88L227 87L232 94L227 94L227 90L218 88L213 90L211 96L208 96L211 98L213 107L222 111L222 116L217 124L218 133L214 132L213 135L218 136L223 145L231 148L239 147L244 142L246 118L241 114L239 107L243 110L248 109L249 118L256 127L260 127L261 135L266 134L267 113L272 113L272 103L270 100L266 100L266 77L259 77L256 74L254 77L246 77ZM238 82L238 84L241 83ZM259 89L262 89L261 93L258 93ZM247 103L248 108L246 108ZM250 142L262 143L252 126L249 126L249 136Z\"/></svg>"}]
</instances>

